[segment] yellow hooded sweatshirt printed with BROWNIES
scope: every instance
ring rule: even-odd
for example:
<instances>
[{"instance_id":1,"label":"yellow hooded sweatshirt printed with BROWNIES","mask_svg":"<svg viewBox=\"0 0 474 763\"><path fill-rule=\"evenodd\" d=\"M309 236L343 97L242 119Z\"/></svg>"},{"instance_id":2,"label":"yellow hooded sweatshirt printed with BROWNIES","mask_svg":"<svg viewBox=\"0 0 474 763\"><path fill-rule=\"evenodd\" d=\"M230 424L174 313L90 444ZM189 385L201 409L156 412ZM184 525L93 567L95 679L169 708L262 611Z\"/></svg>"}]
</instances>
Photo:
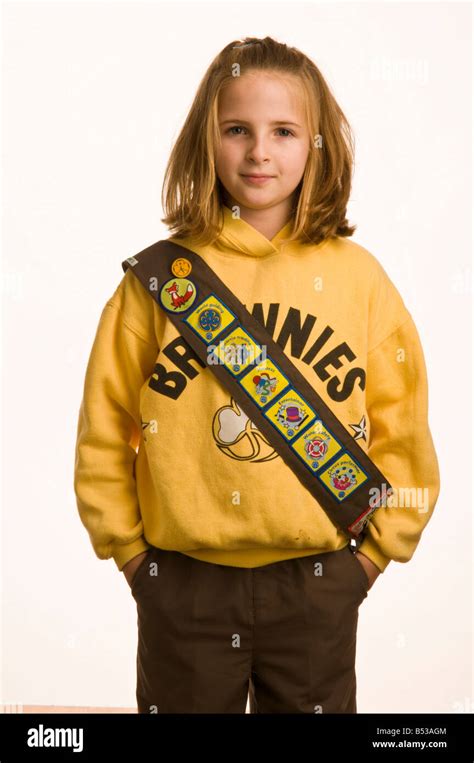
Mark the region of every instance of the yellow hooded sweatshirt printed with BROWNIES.
<instances>
[{"instance_id":1,"label":"yellow hooded sweatshirt printed with BROWNIES","mask_svg":"<svg viewBox=\"0 0 474 763\"><path fill-rule=\"evenodd\" d=\"M263 323L394 488L360 552L407 562L440 477L423 350L378 260L336 237L270 241L223 207L199 254ZM103 308L87 366L74 490L99 559L119 570L149 545L259 567L335 551L348 538L127 270ZM184 356L184 357L183 357ZM167 384L168 381L168 384ZM393 505L390 505L390 500Z\"/></svg>"}]
</instances>

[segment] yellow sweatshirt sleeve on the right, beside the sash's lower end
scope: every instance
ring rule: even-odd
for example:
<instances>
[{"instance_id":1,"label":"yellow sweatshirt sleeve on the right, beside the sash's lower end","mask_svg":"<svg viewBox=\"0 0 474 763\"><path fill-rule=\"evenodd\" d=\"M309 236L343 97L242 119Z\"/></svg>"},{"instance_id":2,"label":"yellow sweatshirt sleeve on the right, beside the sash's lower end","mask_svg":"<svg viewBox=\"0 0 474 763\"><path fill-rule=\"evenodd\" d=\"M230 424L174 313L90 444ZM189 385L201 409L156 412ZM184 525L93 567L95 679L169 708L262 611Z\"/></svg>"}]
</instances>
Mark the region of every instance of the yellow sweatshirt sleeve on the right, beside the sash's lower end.
<instances>
[{"instance_id":1,"label":"yellow sweatshirt sleeve on the right, beside the sash's lower end","mask_svg":"<svg viewBox=\"0 0 474 763\"><path fill-rule=\"evenodd\" d=\"M366 378L368 455L394 492L372 514L359 551L383 572L391 560L412 558L440 491L425 359L408 311L368 353Z\"/></svg>"}]
</instances>

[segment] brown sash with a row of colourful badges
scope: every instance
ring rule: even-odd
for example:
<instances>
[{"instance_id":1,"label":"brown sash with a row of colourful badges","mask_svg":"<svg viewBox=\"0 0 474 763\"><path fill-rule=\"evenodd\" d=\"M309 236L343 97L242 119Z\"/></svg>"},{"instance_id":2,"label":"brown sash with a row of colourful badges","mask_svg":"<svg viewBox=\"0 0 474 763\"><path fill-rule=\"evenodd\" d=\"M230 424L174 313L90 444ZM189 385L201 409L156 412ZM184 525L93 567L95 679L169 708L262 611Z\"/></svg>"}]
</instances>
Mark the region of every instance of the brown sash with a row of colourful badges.
<instances>
[{"instance_id":1,"label":"brown sash with a row of colourful badges","mask_svg":"<svg viewBox=\"0 0 474 763\"><path fill-rule=\"evenodd\" d=\"M360 545L391 485L281 347L195 252L162 240L122 262L129 267L329 519Z\"/></svg>"}]
</instances>

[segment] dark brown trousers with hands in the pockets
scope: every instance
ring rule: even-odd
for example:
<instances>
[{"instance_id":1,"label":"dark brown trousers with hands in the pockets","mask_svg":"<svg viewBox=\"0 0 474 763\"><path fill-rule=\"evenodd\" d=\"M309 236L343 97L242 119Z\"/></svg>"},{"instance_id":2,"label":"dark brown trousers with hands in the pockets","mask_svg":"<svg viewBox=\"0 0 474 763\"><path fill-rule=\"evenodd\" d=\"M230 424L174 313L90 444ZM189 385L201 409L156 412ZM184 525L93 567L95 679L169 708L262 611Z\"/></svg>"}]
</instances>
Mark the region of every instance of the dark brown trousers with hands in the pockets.
<instances>
[{"instance_id":1,"label":"dark brown trousers with hands in the pockets","mask_svg":"<svg viewBox=\"0 0 474 763\"><path fill-rule=\"evenodd\" d=\"M139 713L356 713L350 545L248 569L154 546L132 580Z\"/></svg>"}]
</instances>

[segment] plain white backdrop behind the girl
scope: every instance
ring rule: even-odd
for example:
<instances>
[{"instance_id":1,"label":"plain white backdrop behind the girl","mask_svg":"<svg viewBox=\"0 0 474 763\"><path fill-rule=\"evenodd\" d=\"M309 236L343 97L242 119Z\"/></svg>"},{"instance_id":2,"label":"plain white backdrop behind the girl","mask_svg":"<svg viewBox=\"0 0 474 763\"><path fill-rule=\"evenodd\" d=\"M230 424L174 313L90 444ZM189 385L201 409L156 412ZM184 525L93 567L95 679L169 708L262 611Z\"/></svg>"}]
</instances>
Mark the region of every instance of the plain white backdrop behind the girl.
<instances>
[{"instance_id":1,"label":"plain white backdrop behind the girl","mask_svg":"<svg viewBox=\"0 0 474 763\"><path fill-rule=\"evenodd\" d=\"M472 712L471 8L3 6L2 703L135 706L136 606L73 490L85 368L121 261L166 237L164 167L201 77L271 35L356 135L353 240L418 326L442 488L360 608L359 712Z\"/></svg>"}]
</instances>

